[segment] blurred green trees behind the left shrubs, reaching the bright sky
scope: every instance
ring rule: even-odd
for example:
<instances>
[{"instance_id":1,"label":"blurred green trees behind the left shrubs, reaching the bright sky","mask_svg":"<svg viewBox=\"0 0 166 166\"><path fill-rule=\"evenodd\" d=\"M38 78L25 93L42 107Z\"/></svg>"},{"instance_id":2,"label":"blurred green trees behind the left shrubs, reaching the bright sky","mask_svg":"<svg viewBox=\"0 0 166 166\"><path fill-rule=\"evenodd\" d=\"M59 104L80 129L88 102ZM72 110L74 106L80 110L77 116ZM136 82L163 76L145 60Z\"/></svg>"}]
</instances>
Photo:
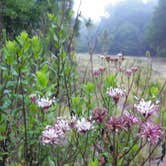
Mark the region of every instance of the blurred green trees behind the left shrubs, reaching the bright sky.
<instances>
[{"instance_id":1,"label":"blurred green trees behind the left shrubs, reaching the bright sky","mask_svg":"<svg viewBox=\"0 0 166 166\"><path fill-rule=\"evenodd\" d=\"M47 13L60 16L65 24L71 22L73 0L1 0L0 31L14 38L22 31L29 34L47 28Z\"/></svg>"}]
</instances>

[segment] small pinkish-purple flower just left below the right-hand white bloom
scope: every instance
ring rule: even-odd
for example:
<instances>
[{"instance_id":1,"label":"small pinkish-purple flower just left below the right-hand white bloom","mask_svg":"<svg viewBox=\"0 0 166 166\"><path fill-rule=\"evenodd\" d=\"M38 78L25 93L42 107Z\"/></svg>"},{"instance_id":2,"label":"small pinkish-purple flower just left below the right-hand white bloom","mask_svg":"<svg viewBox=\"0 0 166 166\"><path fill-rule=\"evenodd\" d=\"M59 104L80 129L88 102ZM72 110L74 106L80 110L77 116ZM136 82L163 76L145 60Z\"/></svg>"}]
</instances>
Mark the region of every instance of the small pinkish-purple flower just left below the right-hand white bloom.
<instances>
[{"instance_id":1,"label":"small pinkish-purple flower just left below the right-hand white bloom","mask_svg":"<svg viewBox=\"0 0 166 166\"><path fill-rule=\"evenodd\" d=\"M124 123L129 127L132 127L133 125L139 123L138 118L131 115L129 112L124 112L123 120L124 120Z\"/></svg>"}]
</instances>

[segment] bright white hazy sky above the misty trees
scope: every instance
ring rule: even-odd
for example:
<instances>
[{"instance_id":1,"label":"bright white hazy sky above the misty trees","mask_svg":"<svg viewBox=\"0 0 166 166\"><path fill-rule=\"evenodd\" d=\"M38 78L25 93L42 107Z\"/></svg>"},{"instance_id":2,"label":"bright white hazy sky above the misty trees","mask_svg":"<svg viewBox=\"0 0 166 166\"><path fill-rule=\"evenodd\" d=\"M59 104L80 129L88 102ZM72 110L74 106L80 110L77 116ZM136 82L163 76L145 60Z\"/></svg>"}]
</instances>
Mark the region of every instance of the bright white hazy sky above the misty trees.
<instances>
[{"instance_id":1,"label":"bright white hazy sky above the misty trees","mask_svg":"<svg viewBox=\"0 0 166 166\"><path fill-rule=\"evenodd\" d=\"M100 17L108 16L108 13L105 11L106 6L109 4L116 4L123 0L81 0L81 14L84 17L90 17L93 21L100 21ZM144 2L150 0L142 0ZM80 0L74 0L74 10L78 10Z\"/></svg>"}]
</instances>

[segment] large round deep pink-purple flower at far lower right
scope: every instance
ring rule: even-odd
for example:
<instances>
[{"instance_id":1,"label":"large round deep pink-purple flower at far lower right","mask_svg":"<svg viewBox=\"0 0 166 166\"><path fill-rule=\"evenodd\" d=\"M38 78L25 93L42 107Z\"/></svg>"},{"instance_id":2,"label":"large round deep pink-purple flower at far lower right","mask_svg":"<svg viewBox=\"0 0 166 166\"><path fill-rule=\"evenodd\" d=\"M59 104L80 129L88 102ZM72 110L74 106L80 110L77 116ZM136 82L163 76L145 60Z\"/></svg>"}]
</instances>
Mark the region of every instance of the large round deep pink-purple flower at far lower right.
<instances>
[{"instance_id":1,"label":"large round deep pink-purple flower at far lower right","mask_svg":"<svg viewBox=\"0 0 166 166\"><path fill-rule=\"evenodd\" d=\"M157 144L162 136L161 126L154 122L146 122L140 126L138 137L147 139L151 144Z\"/></svg>"}]
</instances>

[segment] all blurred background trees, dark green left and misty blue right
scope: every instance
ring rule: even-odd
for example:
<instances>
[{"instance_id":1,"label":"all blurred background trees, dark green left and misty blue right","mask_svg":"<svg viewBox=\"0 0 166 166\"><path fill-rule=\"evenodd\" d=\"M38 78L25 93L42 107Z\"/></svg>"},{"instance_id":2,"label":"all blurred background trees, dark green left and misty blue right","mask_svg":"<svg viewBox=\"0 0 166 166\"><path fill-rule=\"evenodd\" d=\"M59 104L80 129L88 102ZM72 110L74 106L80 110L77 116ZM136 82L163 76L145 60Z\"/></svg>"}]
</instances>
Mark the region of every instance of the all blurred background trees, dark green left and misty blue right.
<instances>
[{"instance_id":1,"label":"all blurred background trees, dark green left and misty blue right","mask_svg":"<svg viewBox=\"0 0 166 166\"><path fill-rule=\"evenodd\" d=\"M87 37L96 35L96 53L143 56L149 50L153 55L166 56L166 0L125 0L108 6L109 16L87 29L88 21L80 26L73 17L73 0L0 0L0 39L2 29L13 39L22 31L30 35L45 33L48 13L54 13L64 26L72 31L77 52L88 52ZM97 30L97 34L96 34ZM73 36L73 33L72 33ZM71 36L71 38L72 38Z\"/></svg>"}]
</instances>

